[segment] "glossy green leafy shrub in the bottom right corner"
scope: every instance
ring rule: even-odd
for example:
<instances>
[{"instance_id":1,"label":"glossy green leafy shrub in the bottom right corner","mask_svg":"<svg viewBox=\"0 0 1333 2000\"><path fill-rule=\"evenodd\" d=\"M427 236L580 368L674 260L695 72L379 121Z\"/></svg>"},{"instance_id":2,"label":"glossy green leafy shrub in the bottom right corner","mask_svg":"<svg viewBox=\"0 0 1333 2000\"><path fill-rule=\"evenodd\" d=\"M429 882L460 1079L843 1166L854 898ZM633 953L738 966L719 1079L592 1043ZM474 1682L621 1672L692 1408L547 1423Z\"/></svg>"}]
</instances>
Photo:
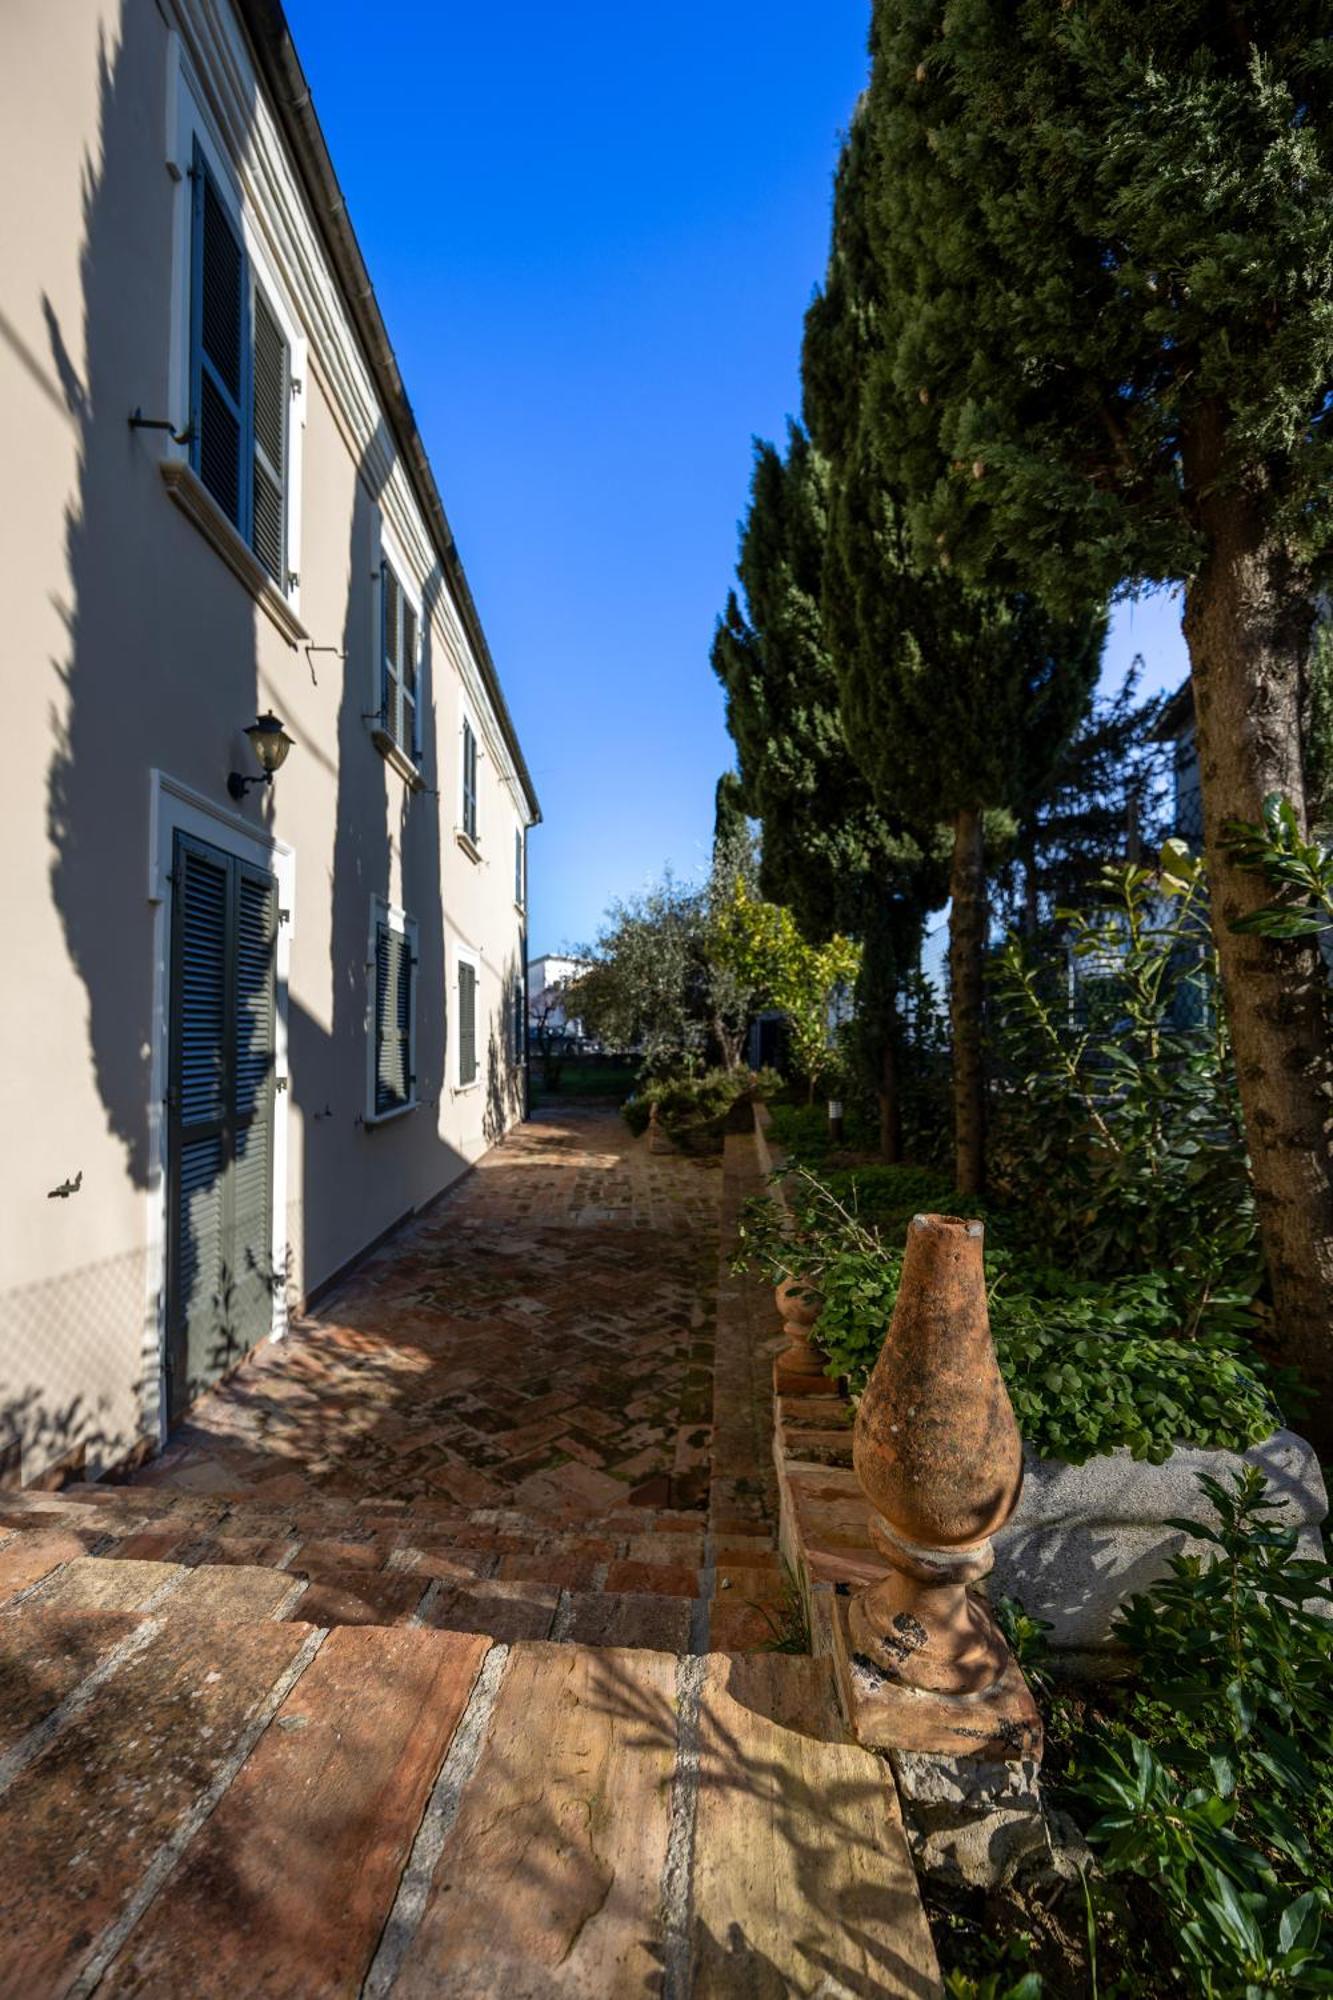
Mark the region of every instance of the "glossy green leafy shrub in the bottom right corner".
<instances>
[{"instance_id":1,"label":"glossy green leafy shrub in the bottom right corner","mask_svg":"<svg viewBox=\"0 0 1333 2000\"><path fill-rule=\"evenodd\" d=\"M1165 1908L1207 2000L1333 1992L1333 1588L1255 1468L1199 1480L1211 1544L1125 1606L1123 1712L1077 1746L1073 1794L1107 1876ZM1147 1990L1147 1988L1139 1988ZM1163 1990L1153 1980L1151 1990ZM1175 1980L1173 1980L1175 1990Z\"/></svg>"}]
</instances>

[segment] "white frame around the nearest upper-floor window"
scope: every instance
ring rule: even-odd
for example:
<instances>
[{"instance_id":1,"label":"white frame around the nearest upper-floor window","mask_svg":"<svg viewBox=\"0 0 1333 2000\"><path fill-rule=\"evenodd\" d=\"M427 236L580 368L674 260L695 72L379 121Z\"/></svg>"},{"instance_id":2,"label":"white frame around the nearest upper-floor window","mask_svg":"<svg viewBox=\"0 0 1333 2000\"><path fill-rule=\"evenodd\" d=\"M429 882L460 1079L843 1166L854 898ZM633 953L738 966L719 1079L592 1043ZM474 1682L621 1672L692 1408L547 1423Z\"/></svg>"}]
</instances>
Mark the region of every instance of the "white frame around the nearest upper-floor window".
<instances>
[{"instance_id":1,"label":"white frame around the nearest upper-floor window","mask_svg":"<svg viewBox=\"0 0 1333 2000\"><path fill-rule=\"evenodd\" d=\"M278 270L268 254L262 236L256 230L254 214L250 202L244 196L236 166L232 164L222 140L210 116L204 110L204 94L198 88L194 74L190 70L188 56L180 42L180 36L172 30L170 50L168 50L168 92L166 92L166 170L176 182L176 208L172 216L172 328L170 328L170 362L168 362L168 404L170 418L178 432L184 432L190 424L190 286L192 286L192 230L194 230L194 182L190 170L194 164L194 146L204 154L208 170L212 174L218 200L228 212L232 226L236 228L246 256L254 268L254 276L264 290L264 298L278 320L288 348L288 368L290 368L290 400L286 412L286 494L284 494L284 524L286 524L286 548L282 564L282 582L272 582L272 590L280 602L292 612L300 612L300 534L302 534L302 464L304 464L304 434L306 434L306 384L310 380L310 350L290 302L288 288L282 284ZM172 480L168 482L174 496L180 496L180 478L188 476L192 484L202 488L202 480L190 468L190 446L168 442L166 448L168 464L172 470ZM212 496L206 496L212 502ZM204 526L200 518L198 504L188 504L186 512ZM242 542L240 530L232 526L216 508L218 522L232 530L236 542L248 550ZM258 558L254 558L258 562Z\"/></svg>"}]
</instances>

